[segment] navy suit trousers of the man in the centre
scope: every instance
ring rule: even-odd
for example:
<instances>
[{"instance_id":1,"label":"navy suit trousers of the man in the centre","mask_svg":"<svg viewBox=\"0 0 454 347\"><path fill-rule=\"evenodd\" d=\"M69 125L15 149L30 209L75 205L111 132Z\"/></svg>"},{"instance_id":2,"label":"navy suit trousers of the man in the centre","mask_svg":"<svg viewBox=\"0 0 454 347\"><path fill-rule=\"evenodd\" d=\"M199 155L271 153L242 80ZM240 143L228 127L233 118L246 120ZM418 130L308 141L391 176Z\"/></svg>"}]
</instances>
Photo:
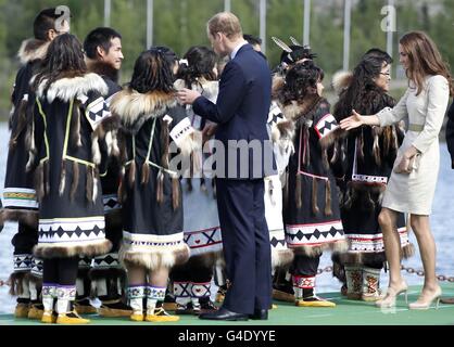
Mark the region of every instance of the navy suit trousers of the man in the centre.
<instances>
[{"instance_id":1,"label":"navy suit trousers of the man in the centre","mask_svg":"<svg viewBox=\"0 0 454 347\"><path fill-rule=\"evenodd\" d=\"M272 268L264 181L218 178L216 190L226 272L231 282L223 306L247 314L268 309Z\"/></svg>"}]
</instances>

